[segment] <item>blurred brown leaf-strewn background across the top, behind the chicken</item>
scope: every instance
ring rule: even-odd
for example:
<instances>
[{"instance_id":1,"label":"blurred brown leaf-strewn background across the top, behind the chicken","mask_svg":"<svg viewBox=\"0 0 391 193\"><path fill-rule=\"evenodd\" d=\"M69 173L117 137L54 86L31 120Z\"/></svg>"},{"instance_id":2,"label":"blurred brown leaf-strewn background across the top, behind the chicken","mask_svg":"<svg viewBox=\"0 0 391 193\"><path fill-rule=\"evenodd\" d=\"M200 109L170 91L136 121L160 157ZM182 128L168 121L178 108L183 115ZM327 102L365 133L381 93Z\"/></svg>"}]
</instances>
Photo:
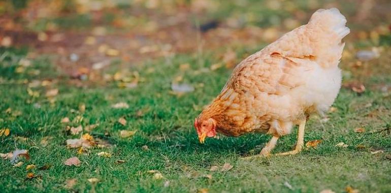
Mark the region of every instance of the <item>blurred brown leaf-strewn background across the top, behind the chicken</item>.
<instances>
[{"instance_id":1,"label":"blurred brown leaf-strewn background across the top, behind the chicken","mask_svg":"<svg viewBox=\"0 0 391 193\"><path fill-rule=\"evenodd\" d=\"M373 59L391 44L387 0L0 1L0 43L28 47L28 58L51 55L60 71L81 80L110 81L104 72L112 65L126 69L179 53L192 54L200 65L210 54L215 68L233 68L306 24L315 10L332 7L351 29L343 59Z\"/></svg>"}]
</instances>

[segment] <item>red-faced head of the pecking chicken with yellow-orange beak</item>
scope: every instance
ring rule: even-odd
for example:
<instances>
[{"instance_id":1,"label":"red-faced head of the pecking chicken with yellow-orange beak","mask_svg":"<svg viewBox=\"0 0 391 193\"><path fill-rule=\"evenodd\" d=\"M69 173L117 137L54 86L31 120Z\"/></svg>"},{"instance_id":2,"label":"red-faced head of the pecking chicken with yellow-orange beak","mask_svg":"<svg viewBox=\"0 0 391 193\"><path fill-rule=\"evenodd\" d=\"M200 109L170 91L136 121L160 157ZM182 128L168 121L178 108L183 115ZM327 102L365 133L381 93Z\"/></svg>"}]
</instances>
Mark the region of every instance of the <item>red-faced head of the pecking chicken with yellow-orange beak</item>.
<instances>
[{"instance_id":1,"label":"red-faced head of the pecking chicken with yellow-orange beak","mask_svg":"<svg viewBox=\"0 0 391 193\"><path fill-rule=\"evenodd\" d=\"M194 120L194 127L196 127L200 143L204 143L206 137L216 136L216 120L213 118L206 120L196 118Z\"/></svg>"}]
</instances>

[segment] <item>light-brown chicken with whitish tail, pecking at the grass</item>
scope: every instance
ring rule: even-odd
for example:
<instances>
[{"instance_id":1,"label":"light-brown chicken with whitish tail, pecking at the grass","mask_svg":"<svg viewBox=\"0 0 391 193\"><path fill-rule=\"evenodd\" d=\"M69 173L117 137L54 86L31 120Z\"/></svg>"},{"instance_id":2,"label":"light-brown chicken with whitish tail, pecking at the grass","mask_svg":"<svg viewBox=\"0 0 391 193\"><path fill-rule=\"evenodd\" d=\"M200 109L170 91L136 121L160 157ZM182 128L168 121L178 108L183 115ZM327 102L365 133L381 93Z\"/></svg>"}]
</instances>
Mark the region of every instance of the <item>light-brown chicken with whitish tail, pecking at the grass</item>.
<instances>
[{"instance_id":1,"label":"light-brown chicken with whitish tail, pecking at the grass","mask_svg":"<svg viewBox=\"0 0 391 193\"><path fill-rule=\"evenodd\" d=\"M277 140L299 125L296 147L304 145L309 115L322 115L341 87L338 68L350 30L338 9L316 11L308 24L248 56L234 69L220 94L194 120L200 143L216 133L272 135L259 155L268 156Z\"/></svg>"}]
</instances>

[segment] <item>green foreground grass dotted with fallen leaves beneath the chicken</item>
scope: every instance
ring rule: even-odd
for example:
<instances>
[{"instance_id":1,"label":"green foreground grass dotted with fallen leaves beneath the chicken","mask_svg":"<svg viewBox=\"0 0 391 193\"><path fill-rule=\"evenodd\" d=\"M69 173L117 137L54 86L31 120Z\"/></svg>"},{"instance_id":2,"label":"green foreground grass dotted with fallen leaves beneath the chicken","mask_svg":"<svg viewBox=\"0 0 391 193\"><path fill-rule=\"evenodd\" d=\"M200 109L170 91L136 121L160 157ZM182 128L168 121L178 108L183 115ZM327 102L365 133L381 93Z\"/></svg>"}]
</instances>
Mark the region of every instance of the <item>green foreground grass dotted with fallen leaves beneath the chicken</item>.
<instances>
[{"instance_id":1,"label":"green foreground grass dotted with fallen leaves beneath the chicken","mask_svg":"<svg viewBox=\"0 0 391 193\"><path fill-rule=\"evenodd\" d=\"M45 57L33 59L31 66L16 73L20 67L18 61L26 52L2 50L3 56L5 53L7 56L2 57L0 66L0 94L3 96L0 98L0 127L10 128L11 135L1 138L0 152L29 149L31 156L29 160L23 160L23 166L16 168L9 160L0 159L0 189L6 192L195 192L201 188L208 188L210 192L319 192L323 189L342 192L346 186L362 192L391 190L388 183L391 177L391 136L387 132L369 132L389 127L391 100L383 92L369 88L357 95L343 88L334 104L337 111L328 114L329 121L320 123L319 118L313 117L307 125L306 142L323 140L316 149L304 150L295 156L272 156L247 162L240 157L258 153L270 136L221 136L220 139L207 139L202 145L192 127L193 118L200 112L195 109L211 101L224 85L230 70L193 73L198 69L197 60L179 55L171 62L155 61L159 65L152 62L132 69L145 79L136 88L121 89L116 83L78 88L70 85L66 78L56 78L62 77L61 72ZM190 63L191 70L178 70L184 61ZM208 67L210 62L206 63ZM148 68L155 71L147 73ZM36 70L41 74L30 73ZM204 86L178 97L171 94L170 89L172 79L178 75L183 75L185 82L203 83ZM53 83L31 88L40 93L40 97L33 98L26 90L28 83L34 80L51 80ZM388 79L385 83L391 82ZM59 89L54 102L45 97L50 88ZM127 103L129 108L111 108L118 102ZM85 104L85 112L78 110L80 104ZM9 108L11 112L6 112ZM95 147L86 154L67 148L66 140L78 136L66 132L67 124L60 120L63 117L73 120L76 116L82 116L82 122L69 125L99 123L90 134L112 146ZM125 126L117 122L120 117L127 120ZM353 129L360 126L367 132L354 133ZM123 139L119 137L120 130L137 130L137 133L132 138ZM48 139L47 146L41 143L44 138ZM296 132L281 138L274 152L289 150L295 141ZM336 147L340 142L349 146ZM144 145L149 150L143 150ZM364 148L357 148L357 145ZM377 149L384 152L371 154ZM101 151L110 152L112 156L97 156L96 153ZM64 160L72 156L79 157L82 164L64 166ZM118 164L117 160L125 160L125 163ZM224 163L230 163L234 168L225 172L209 171L211 166ZM37 168L51 167L26 171L29 164ZM158 170L164 179L153 179L153 175L147 172L149 170ZM39 178L27 179L28 172ZM212 178L206 178L207 174ZM64 185L72 178L77 179L77 185L68 189ZM87 181L89 178L97 178L100 182L92 185ZM165 187L167 181L169 185ZM286 182L292 189L284 185Z\"/></svg>"}]
</instances>

